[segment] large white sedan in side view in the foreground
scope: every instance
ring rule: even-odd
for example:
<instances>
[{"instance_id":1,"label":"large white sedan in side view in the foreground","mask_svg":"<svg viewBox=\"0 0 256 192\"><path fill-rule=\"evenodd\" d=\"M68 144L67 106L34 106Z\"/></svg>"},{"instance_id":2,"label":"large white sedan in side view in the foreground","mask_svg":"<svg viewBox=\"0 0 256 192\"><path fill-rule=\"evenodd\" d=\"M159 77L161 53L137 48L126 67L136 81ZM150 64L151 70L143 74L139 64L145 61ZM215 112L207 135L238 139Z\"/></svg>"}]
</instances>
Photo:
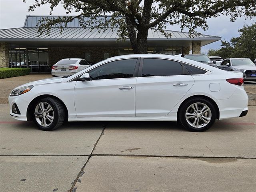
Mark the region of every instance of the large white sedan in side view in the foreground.
<instances>
[{"instance_id":1,"label":"large white sedan in side view in the foreground","mask_svg":"<svg viewBox=\"0 0 256 192\"><path fill-rule=\"evenodd\" d=\"M10 115L41 130L68 121L178 121L202 132L216 119L245 116L243 74L186 58L134 54L77 74L24 84L9 96Z\"/></svg>"}]
</instances>

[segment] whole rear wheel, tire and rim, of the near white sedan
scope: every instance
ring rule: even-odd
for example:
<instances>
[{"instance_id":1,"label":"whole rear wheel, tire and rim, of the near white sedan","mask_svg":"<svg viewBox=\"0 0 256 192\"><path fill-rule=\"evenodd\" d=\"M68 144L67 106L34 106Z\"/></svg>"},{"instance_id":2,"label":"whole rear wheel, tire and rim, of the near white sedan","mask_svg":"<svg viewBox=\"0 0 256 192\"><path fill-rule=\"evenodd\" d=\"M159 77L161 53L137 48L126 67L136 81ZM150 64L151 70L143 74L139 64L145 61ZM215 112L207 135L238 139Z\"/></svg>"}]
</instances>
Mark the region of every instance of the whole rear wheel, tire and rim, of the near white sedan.
<instances>
[{"instance_id":1,"label":"whole rear wheel, tire and rim, of the near white sedan","mask_svg":"<svg viewBox=\"0 0 256 192\"><path fill-rule=\"evenodd\" d=\"M193 98L180 108L179 122L189 131L203 132L208 130L215 120L214 105L205 98Z\"/></svg>"}]
</instances>

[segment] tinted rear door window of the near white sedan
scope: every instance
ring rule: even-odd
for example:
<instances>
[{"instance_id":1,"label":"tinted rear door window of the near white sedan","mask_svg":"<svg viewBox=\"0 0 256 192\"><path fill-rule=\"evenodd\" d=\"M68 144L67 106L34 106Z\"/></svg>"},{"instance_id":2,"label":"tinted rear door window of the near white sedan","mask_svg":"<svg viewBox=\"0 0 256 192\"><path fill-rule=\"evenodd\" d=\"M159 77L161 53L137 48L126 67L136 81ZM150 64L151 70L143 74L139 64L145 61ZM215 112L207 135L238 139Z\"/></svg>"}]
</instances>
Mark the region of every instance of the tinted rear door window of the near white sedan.
<instances>
[{"instance_id":1,"label":"tinted rear door window of the near white sedan","mask_svg":"<svg viewBox=\"0 0 256 192\"><path fill-rule=\"evenodd\" d=\"M182 75L182 66L179 62L165 59L143 60L142 77Z\"/></svg>"}]
</instances>

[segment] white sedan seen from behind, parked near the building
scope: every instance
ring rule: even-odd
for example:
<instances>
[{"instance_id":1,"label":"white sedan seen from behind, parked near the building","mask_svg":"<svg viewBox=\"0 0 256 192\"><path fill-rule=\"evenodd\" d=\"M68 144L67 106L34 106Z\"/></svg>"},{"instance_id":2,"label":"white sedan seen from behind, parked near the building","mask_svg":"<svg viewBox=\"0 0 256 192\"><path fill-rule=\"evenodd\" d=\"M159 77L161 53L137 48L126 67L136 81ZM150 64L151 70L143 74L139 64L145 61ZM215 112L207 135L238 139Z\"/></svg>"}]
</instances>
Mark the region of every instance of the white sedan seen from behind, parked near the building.
<instances>
[{"instance_id":1,"label":"white sedan seen from behind, parked near the building","mask_svg":"<svg viewBox=\"0 0 256 192\"><path fill-rule=\"evenodd\" d=\"M90 67L90 63L84 59L68 58L59 60L52 66L52 76L73 75Z\"/></svg>"}]
</instances>

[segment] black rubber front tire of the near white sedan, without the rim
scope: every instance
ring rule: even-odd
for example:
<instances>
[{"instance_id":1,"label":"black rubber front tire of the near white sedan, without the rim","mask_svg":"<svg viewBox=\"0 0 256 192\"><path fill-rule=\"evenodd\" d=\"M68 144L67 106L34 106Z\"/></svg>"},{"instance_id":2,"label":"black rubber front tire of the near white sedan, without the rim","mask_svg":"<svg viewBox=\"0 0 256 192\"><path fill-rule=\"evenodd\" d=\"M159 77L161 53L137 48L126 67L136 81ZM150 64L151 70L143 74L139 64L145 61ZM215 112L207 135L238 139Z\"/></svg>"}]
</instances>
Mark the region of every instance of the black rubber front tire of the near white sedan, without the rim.
<instances>
[{"instance_id":1,"label":"black rubber front tire of the near white sedan, without the rim","mask_svg":"<svg viewBox=\"0 0 256 192\"><path fill-rule=\"evenodd\" d=\"M37 105L41 102L46 102L47 104L49 104L52 107L54 117L53 117L52 123L49 126L42 126L36 120L34 113L35 113ZM62 125L62 123L64 122L64 118L65 118L64 106L62 106L62 104L58 100L56 100L54 98L50 98L50 97L45 97L45 98L38 100L34 104L32 112L33 112L33 120L34 120L35 124L38 126L38 128L40 130L44 130L44 131L51 131L51 130L57 129L58 127L60 127Z\"/></svg>"}]
</instances>

